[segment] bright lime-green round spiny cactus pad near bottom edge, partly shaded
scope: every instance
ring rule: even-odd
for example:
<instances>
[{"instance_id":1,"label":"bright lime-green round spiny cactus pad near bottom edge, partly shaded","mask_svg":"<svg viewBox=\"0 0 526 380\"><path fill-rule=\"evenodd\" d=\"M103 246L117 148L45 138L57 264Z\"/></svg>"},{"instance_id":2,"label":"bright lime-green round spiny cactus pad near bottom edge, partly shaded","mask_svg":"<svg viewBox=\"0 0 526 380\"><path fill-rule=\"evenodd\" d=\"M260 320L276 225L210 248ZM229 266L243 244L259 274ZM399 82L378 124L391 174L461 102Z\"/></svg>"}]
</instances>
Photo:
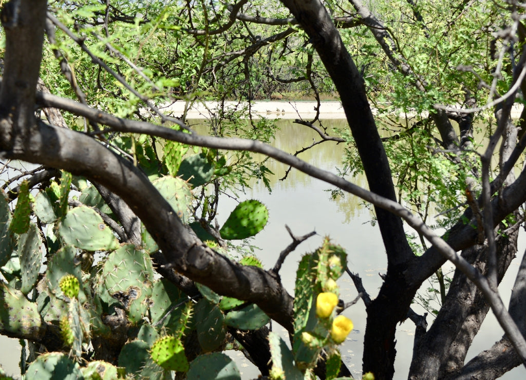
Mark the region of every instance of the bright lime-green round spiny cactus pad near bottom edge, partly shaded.
<instances>
[{"instance_id":1,"label":"bright lime-green round spiny cactus pad near bottom edge, partly shaded","mask_svg":"<svg viewBox=\"0 0 526 380\"><path fill-rule=\"evenodd\" d=\"M183 343L175 336L158 338L150 348L151 358L161 367L170 371L188 371L188 360Z\"/></svg>"}]
</instances>

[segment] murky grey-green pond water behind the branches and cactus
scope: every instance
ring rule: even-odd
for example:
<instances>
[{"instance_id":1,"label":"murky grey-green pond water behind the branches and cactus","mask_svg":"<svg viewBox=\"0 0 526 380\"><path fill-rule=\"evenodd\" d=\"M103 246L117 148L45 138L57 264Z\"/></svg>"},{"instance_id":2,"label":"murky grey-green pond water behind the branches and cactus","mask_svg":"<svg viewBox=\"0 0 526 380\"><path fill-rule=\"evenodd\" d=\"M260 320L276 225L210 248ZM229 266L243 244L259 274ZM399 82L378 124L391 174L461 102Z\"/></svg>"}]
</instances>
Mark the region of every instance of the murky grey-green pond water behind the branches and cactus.
<instances>
[{"instance_id":1,"label":"murky grey-green pond water behind the branches and cactus","mask_svg":"<svg viewBox=\"0 0 526 380\"><path fill-rule=\"evenodd\" d=\"M346 127L346 121L328 120L325 125L343 128ZM273 145L288 152L294 152L310 144L313 138L317 138L316 132L294 124L292 120L280 120L279 127L280 131L277 133ZM325 142L302 153L299 157L322 169L336 172L335 167L340 164L342 155L342 145L337 145L335 142ZM387 261L379 229L370 223L372 220L371 212L360 199L350 194L346 194L335 201L331 200L330 193L326 191L331 189L331 186L320 180L310 178L295 169L290 171L286 180L280 181L279 178L284 176L287 167L275 161L269 161L268 166L275 173L270 178L272 193L269 194L265 186L259 182L252 183L252 188L247 189L245 195L239 194L240 198L254 198L264 202L270 211L267 227L252 241L254 245L260 248L256 253L264 263L265 268L272 268L279 252L291 242L285 224L296 235L316 231L317 235L300 244L296 251L288 256L281 268L280 274L287 290L291 294L294 293L297 263L302 254L316 250L321 244L322 238L328 235L334 243L347 250L349 269L361 276L365 289L371 297L375 297L382 281L379 273L386 272ZM366 180L363 177L357 177L353 179L353 182L359 186L367 187ZM218 213L220 224L226 220L235 205L236 201L228 197L221 200ZM524 251L524 240L522 234L519 240L520 256ZM505 304L509 302L511 284L513 284L520 260L521 257L518 257L512 262L508 274L501 284ZM358 292L346 274L342 276L339 284L341 285L341 296L346 302L355 299ZM427 286L429 284L423 285L423 287ZM419 314L424 312L418 305L414 305L414 310ZM357 378L361 378L363 333L366 323L365 307L359 301L347 309L344 314L353 321L355 330L349 334L347 341L341 347L342 358L351 373ZM431 323L429 316L428 323ZM274 331L283 330L277 324L272 327ZM398 327L396 379L407 378L412 355L413 333L414 325L412 322L404 322ZM491 347L493 342L499 340L501 336L501 327L493 315L489 313L479 335L473 342L473 347L476 348L468 354L469 358L479 351ZM18 341L0 336L0 345L2 347L0 349L0 364L8 373L19 373ZM245 360L242 354L231 354L237 358L240 371L243 373L242 378L257 378L257 369ZM526 371L524 367L517 367L502 378L526 378Z\"/></svg>"}]
</instances>

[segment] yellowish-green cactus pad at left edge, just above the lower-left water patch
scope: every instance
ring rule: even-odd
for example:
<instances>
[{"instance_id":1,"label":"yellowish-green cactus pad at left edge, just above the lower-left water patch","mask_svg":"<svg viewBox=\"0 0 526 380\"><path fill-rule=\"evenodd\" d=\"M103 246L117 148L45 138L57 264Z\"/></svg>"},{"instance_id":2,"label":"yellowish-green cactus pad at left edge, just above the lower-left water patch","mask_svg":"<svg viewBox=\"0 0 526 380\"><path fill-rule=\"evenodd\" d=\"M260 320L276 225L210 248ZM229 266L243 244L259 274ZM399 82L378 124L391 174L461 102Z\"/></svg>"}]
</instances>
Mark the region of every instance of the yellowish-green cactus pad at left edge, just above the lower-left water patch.
<instances>
[{"instance_id":1,"label":"yellowish-green cactus pad at left edge, just above the lower-left water patch","mask_svg":"<svg viewBox=\"0 0 526 380\"><path fill-rule=\"evenodd\" d=\"M44 334L37 304L29 302L24 293L0 282L0 331L35 339Z\"/></svg>"}]
</instances>

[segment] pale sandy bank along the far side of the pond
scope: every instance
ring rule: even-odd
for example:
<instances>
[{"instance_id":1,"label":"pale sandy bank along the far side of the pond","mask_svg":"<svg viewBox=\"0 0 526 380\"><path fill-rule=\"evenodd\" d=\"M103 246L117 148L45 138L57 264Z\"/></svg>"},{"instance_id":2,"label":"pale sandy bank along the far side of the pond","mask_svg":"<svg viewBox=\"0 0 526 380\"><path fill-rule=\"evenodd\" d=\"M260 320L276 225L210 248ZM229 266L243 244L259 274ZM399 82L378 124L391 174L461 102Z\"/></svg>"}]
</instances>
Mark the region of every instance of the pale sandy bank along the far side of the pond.
<instances>
[{"instance_id":1,"label":"pale sandy bank along the far side of the pond","mask_svg":"<svg viewBox=\"0 0 526 380\"><path fill-rule=\"evenodd\" d=\"M207 119L210 117L209 110L217 108L217 101L207 101L206 106L202 103L195 103L194 106L188 110L187 119ZM248 107L248 102L225 101L227 108L241 108ZM309 100L258 100L251 102L252 114L261 118L272 119L313 119L316 116L316 101ZM176 101L173 104L168 104L159 107L161 110L172 113L175 116L183 115L185 102ZM522 112L522 105L514 105L511 110L512 119L518 119ZM373 114L376 115L376 110L373 109ZM320 105L320 119L346 119L345 112L340 101L322 101Z\"/></svg>"}]
</instances>

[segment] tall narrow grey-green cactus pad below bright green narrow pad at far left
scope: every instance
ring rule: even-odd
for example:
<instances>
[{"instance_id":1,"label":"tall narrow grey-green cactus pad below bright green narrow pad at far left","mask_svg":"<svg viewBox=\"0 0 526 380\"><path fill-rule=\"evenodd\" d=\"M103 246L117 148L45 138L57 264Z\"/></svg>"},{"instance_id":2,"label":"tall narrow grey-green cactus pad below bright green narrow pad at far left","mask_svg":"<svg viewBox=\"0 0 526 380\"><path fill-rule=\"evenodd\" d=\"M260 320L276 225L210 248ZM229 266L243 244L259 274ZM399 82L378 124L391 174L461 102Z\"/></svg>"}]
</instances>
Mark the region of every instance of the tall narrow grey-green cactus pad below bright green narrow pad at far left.
<instances>
[{"instance_id":1,"label":"tall narrow grey-green cactus pad below bright green narrow pad at far left","mask_svg":"<svg viewBox=\"0 0 526 380\"><path fill-rule=\"evenodd\" d=\"M40 250L42 240L35 223L29 225L27 232L18 239L18 257L22 274L20 290L27 294L36 283L38 272L42 266L42 253Z\"/></svg>"}]
</instances>

